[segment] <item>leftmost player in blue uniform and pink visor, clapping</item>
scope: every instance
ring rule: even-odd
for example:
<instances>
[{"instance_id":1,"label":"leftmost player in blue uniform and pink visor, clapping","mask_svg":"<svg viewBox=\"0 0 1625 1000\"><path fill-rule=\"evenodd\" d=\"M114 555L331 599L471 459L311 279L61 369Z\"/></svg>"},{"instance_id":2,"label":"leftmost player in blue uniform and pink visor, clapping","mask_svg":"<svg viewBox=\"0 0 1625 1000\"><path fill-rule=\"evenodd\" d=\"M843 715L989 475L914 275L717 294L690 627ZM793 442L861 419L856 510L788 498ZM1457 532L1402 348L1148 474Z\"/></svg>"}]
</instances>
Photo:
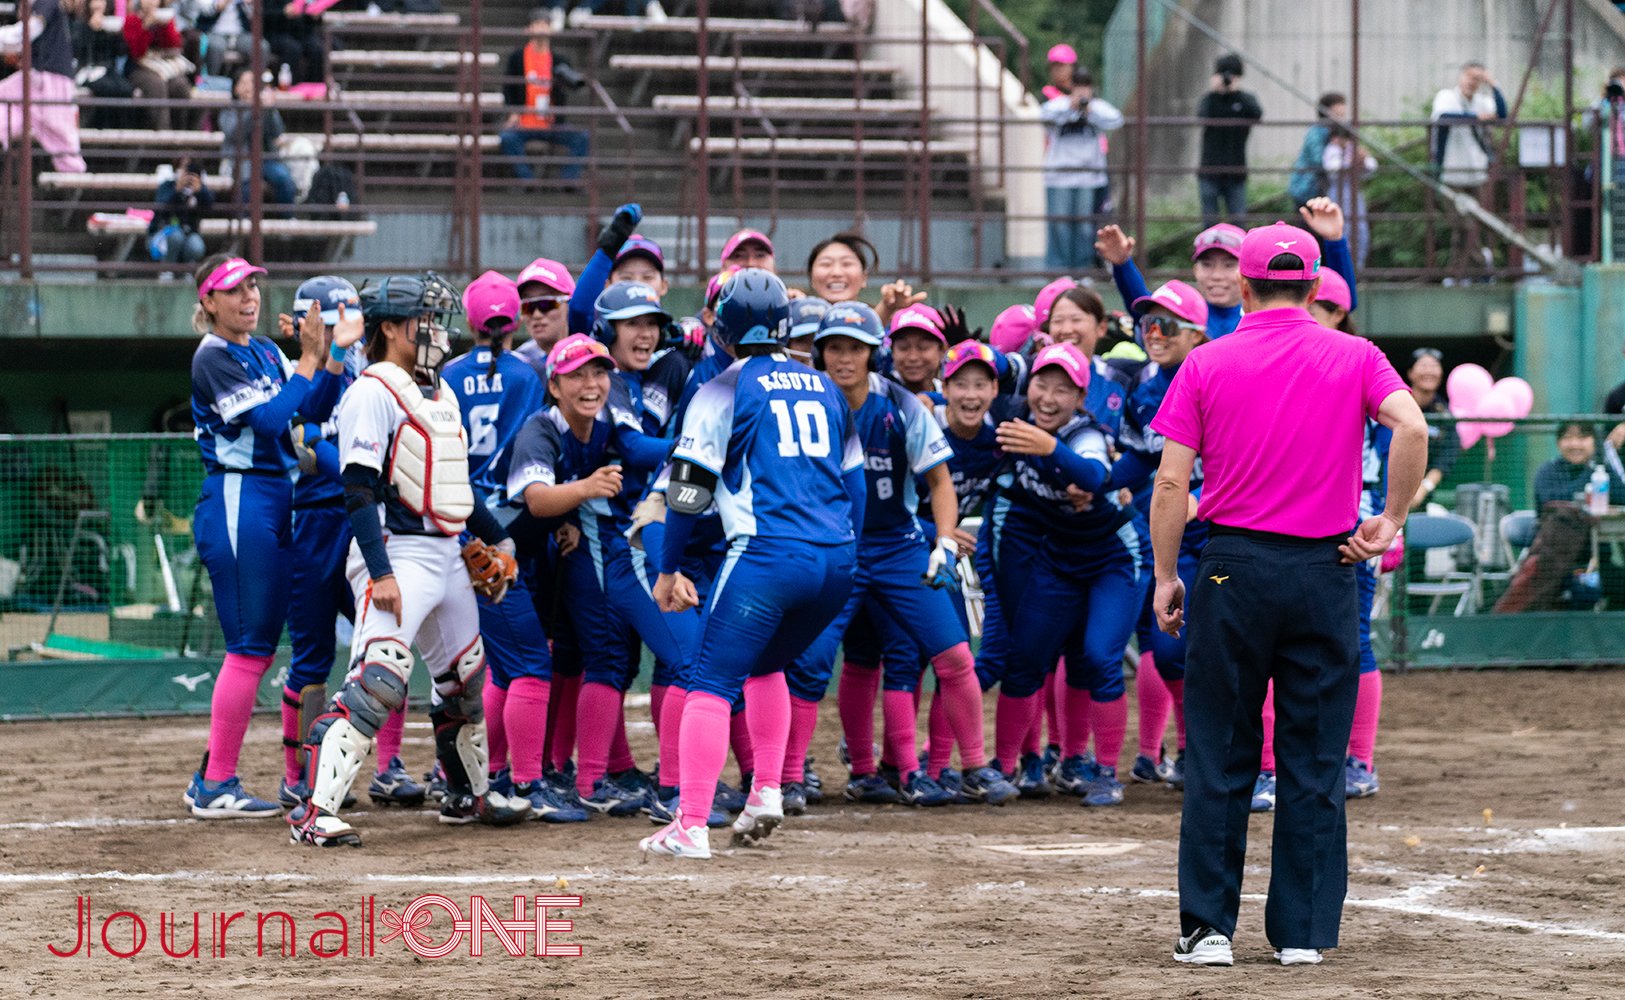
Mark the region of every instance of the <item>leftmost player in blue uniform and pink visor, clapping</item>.
<instances>
[{"instance_id":1,"label":"leftmost player in blue uniform and pink visor, clapping","mask_svg":"<svg viewBox=\"0 0 1625 1000\"><path fill-rule=\"evenodd\" d=\"M335 376L343 374L332 359L317 371L327 354L318 315L301 317L297 366L254 335L260 322L257 275L263 273L240 257L203 260L192 315L192 328L203 337L192 356L192 418L205 470L192 524L226 634L208 750L182 795L192 815L205 820L271 816L281 808L242 789L237 756L260 676L288 620L297 465L289 420L296 411L327 420L340 390Z\"/></svg>"}]
</instances>

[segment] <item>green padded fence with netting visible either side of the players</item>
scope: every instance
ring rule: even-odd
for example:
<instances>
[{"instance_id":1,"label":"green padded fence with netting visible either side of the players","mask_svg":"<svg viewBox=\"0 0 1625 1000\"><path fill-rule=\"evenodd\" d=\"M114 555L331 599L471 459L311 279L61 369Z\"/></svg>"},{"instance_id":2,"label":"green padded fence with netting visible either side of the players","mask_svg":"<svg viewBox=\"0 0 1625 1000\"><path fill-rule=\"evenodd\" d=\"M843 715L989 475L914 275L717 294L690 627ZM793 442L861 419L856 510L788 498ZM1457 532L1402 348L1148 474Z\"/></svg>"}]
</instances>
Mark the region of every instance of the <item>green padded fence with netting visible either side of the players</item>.
<instances>
[{"instance_id":1,"label":"green padded fence with netting visible either side of the players","mask_svg":"<svg viewBox=\"0 0 1625 1000\"><path fill-rule=\"evenodd\" d=\"M1573 420L1596 426L1599 441L1618 421L1514 421L1493 462L1484 442L1461 452L1430 504L1497 527L1502 514L1532 509L1534 476L1557 454L1554 429ZM188 434L0 434L0 668L10 673L0 719L208 711L224 642L192 545L202 481ZM1490 501L1480 499L1485 483L1500 488ZM1597 524L1625 525L1625 498L1615 501ZM1372 629L1380 660L1398 670L1625 663L1625 527L1618 533L1620 541L1597 545L1596 566L1565 567L1597 571L1601 595L1584 610L1495 613L1516 546L1490 551L1485 543L1477 554L1453 551L1448 563L1435 554L1432 564L1407 551L1402 567L1383 577ZM1462 613L1454 595L1430 613L1433 597L1414 592L1440 579L1472 582ZM262 707L276 704L286 662L284 636ZM413 693L427 693L421 663Z\"/></svg>"}]
</instances>

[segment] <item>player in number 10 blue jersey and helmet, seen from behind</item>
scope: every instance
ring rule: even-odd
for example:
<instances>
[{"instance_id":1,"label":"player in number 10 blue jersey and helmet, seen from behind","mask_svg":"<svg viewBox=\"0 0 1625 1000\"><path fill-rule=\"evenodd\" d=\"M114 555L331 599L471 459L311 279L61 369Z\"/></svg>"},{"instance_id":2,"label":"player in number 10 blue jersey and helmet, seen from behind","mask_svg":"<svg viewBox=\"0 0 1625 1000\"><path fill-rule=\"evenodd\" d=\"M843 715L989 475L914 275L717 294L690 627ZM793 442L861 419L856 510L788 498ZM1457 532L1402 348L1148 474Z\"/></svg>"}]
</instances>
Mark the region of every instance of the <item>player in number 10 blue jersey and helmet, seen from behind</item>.
<instances>
[{"instance_id":1,"label":"player in number 10 blue jersey and helmet, seen from behind","mask_svg":"<svg viewBox=\"0 0 1625 1000\"><path fill-rule=\"evenodd\" d=\"M713 337L738 358L694 395L666 493L655 597L694 603L678 572L694 520L715 501L730 540L712 585L679 737L678 818L640 847L710 857L705 816L728 754L730 706L744 691L756 782L734 831L760 837L783 818L780 774L790 732L785 667L852 592L853 525L863 524L863 447L847 398L822 372L783 354L790 298L759 268L736 273ZM762 738L772 733L772 738Z\"/></svg>"}]
</instances>

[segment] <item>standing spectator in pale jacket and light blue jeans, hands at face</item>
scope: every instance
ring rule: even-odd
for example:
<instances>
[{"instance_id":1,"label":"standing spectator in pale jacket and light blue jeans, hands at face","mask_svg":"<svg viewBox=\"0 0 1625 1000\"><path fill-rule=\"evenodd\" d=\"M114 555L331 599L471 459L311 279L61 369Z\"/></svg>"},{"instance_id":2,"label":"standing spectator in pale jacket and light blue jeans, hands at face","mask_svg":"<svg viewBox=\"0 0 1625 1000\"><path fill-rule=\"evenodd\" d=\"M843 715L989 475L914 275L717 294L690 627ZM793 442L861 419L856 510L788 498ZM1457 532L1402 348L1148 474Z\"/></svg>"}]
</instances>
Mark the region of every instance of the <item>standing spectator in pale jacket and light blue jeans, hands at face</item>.
<instances>
[{"instance_id":1,"label":"standing spectator in pale jacket and light blue jeans, hands at face","mask_svg":"<svg viewBox=\"0 0 1625 1000\"><path fill-rule=\"evenodd\" d=\"M1051 52L1053 55L1053 52ZM1074 68L1072 93L1038 109L1048 135L1043 150L1043 200L1050 216L1045 267L1056 272L1095 267L1095 216L1107 210L1107 137L1123 127L1123 112L1095 96L1095 78Z\"/></svg>"}]
</instances>

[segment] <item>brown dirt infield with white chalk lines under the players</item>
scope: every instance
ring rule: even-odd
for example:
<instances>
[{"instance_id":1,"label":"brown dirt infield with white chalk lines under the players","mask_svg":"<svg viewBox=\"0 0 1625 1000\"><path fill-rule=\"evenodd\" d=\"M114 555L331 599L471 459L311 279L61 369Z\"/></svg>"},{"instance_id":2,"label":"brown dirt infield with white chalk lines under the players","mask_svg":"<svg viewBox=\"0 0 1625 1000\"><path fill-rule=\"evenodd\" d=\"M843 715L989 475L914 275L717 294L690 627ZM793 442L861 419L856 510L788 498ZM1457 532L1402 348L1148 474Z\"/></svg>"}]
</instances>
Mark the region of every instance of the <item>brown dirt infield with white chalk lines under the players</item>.
<instances>
[{"instance_id":1,"label":"brown dirt infield with white chalk lines under the players","mask_svg":"<svg viewBox=\"0 0 1625 1000\"><path fill-rule=\"evenodd\" d=\"M1172 961L1180 803L1165 789L1129 787L1123 808L1103 811L1071 798L1004 810L822 807L767 846L708 863L640 863L635 841L653 829L642 818L455 829L379 810L354 820L362 850L317 852L289 846L281 821L185 818L180 792L203 746L202 720L6 725L3 780L18 808L0 824L0 995L1618 997L1622 681L1389 676L1383 792L1349 807L1344 946L1294 969L1269 961L1256 896L1242 907L1233 969ZM838 797L832 701L814 753ZM634 728L634 750L652 759L653 733ZM408 728L405 754L418 771L427 764L426 728ZM270 793L280 759L275 717L255 717L249 787ZM1488 824L1484 810L1493 810ZM1269 829L1254 816L1248 893L1268 886ZM990 849L1022 844L1095 844L1082 847L1095 854ZM426 893L458 901L465 917L471 894L502 917L515 894L580 894L580 909L548 917L575 920L549 943L583 954L512 958L486 935L483 958L465 941L419 959L400 940L362 958L361 898L374 896L382 914ZM73 948L83 896L91 946L57 958L47 945ZM133 958L102 946L115 911L146 925ZM226 958L210 956L211 914L239 911L247 915L226 932ZM257 914L271 911L297 922L292 958L273 958L275 919L266 954L255 956ZM312 932L336 927L314 920L322 911L346 917L349 956L309 953ZM180 915L179 950L200 914L202 956L162 953L166 912ZM432 932L445 938L444 914ZM388 933L384 920L375 933ZM135 937L128 917L107 927L114 950L128 951Z\"/></svg>"}]
</instances>

